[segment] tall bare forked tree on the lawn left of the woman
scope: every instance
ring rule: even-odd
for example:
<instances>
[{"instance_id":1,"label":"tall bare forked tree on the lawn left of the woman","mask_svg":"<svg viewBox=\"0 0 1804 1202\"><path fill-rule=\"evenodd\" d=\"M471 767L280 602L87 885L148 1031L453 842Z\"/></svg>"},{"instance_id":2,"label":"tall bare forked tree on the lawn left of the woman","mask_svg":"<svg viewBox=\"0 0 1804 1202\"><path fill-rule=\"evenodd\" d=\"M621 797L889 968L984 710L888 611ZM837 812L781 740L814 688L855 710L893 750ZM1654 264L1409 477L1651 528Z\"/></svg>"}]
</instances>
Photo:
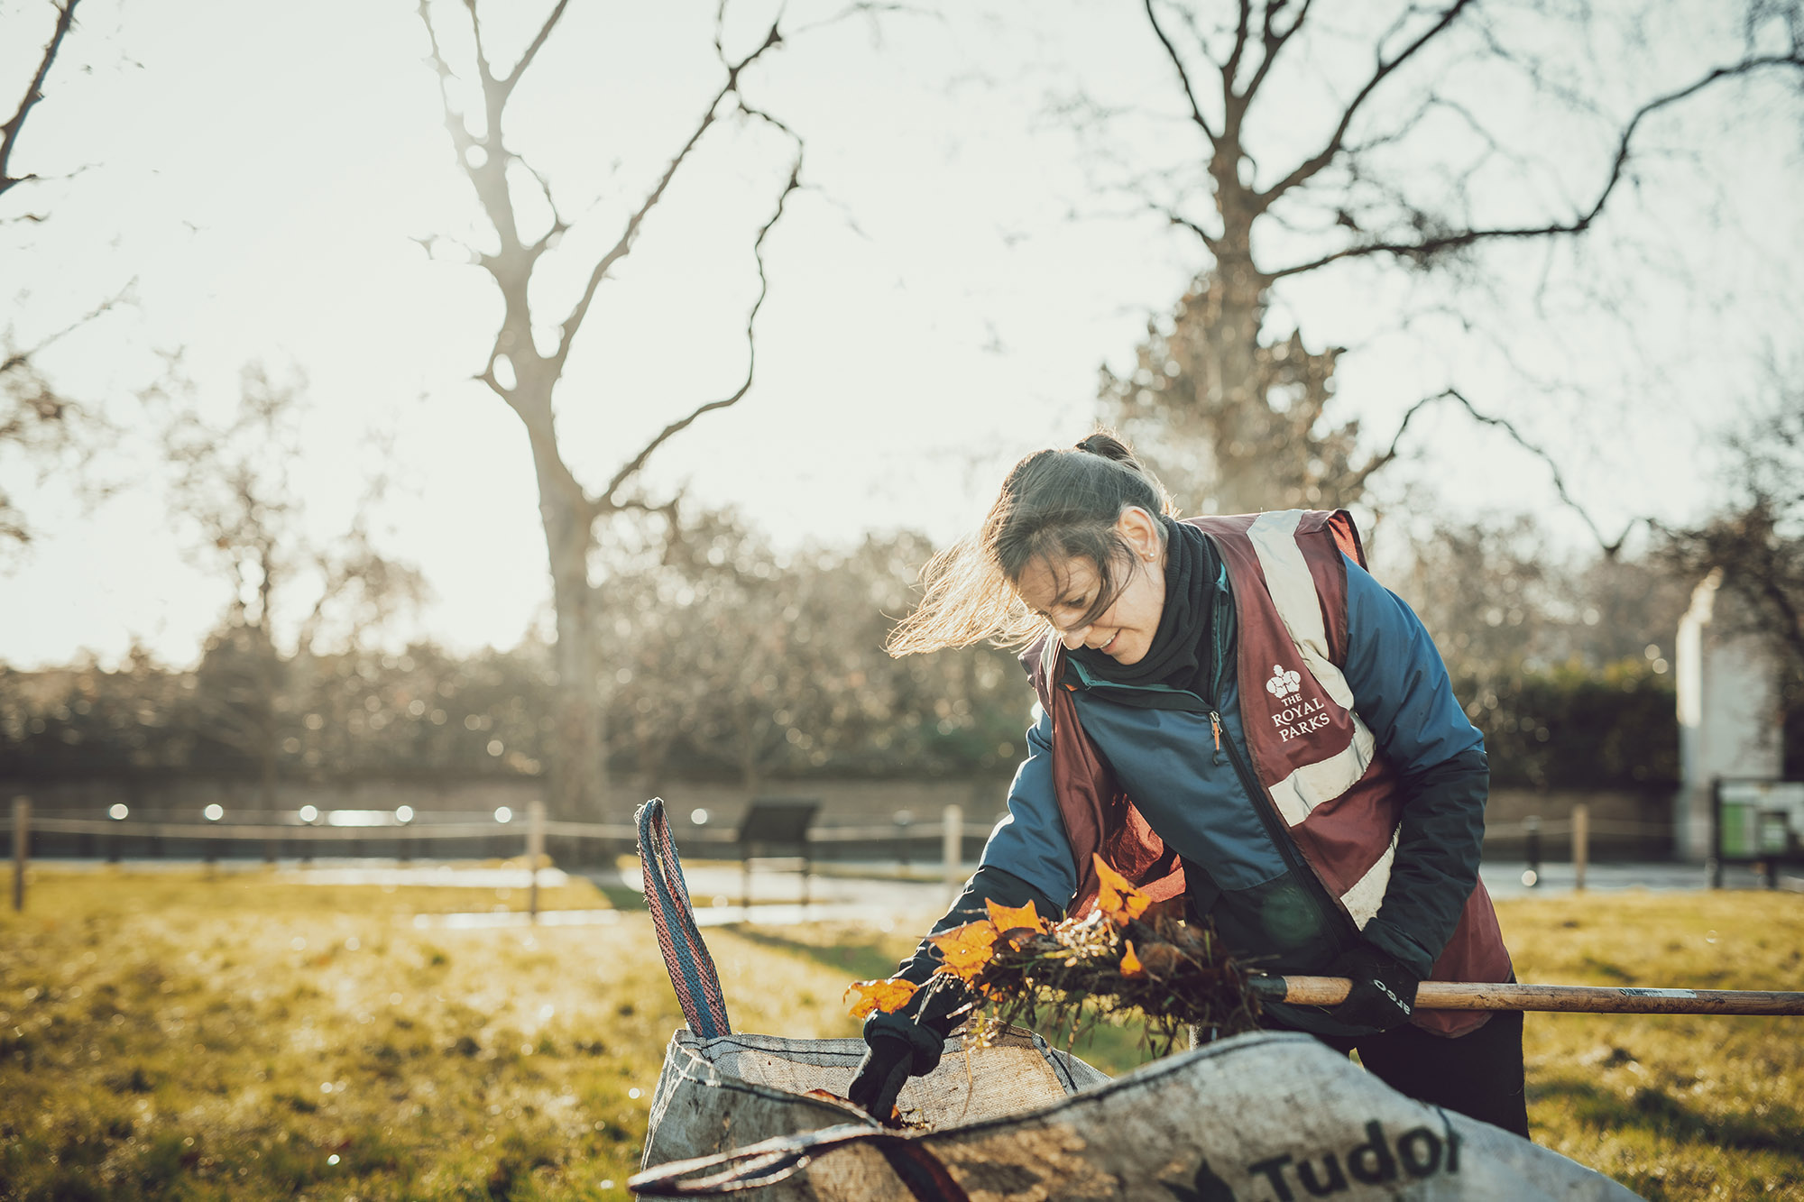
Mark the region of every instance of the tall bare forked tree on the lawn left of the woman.
<instances>
[{"instance_id":1,"label":"tall bare forked tree on the lawn left of the woman","mask_svg":"<svg viewBox=\"0 0 1804 1202\"><path fill-rule=\"evenodd\" d=\"M534 319L529 285L543 256L556 247L568 229L568 222L557 209L545 175L527 164L520 152L509 144L505 119L509 103L521 79L556 32L566 7L568 0L557 0L520 60L498 74L483 42L478 5L474 0L464 2L473 34L473 61L462 74L473 78L482 92L482 112L473 116L460 112L456 106L453 79L458 72L446 60L438 27L424 0L420 4L420 20L431 42L431 63L440 79L446 128L451 132L451 144L492 231L491 245L473 258L476 265L489 273L496 289L500 289L503 312L500 328L489 347L487 361L476 379L487 384L527 428L527 439L532 446L532 464L538 473L539 516L545 525L552 601L557 617L557 700L552 717L556 756L550 765L550 805L565 816L592 816L603 807L606 769L594 637L594 588L588 572L590 552L597 545L597 531L608 516L628 509L649 507L635 485L651 455L704 413L736 404L750 392L756 368L754 328L767 292L763 264L765 238L783 218L790 193L801 186L803 141L787 125L752 105L741 90L745 72L783 43L779 25L772 23L756 47L732 56L727 52L723 42L725 4L722 4L714 25L714 51L722 70L718 88L711 97L704 99L700 119L682 146L671 155L662 175L648 188L644 200L626 218L619 236L590 264L586 285L570 309L563 312L556 327L556 345L541 350L534 341L534 327L543 328L547 323ZM583 330L597 291L608 280L610 271L633 253L633 245L649 213L666 197L666 191L684 166L695 159L696 148L709 130L732 117L756 121L778 130L794 146L788 175L778 190L776 200L769 209L769 218L758 227L750 245L752 269L758 274L758 298L745 318L745 375L729 393L698 401L684 417L669 422L644 446L622 449L621 466L615 473L601 487L590 489L570 471L557 444L554 393L563 379L570 350ZM527 168L552 213L548 226L536 235L523 231L520 224L514 182L511 182L509 171L514 164ZM512 179L518 180L518 175Z\"/></svg>"}]
</instances>

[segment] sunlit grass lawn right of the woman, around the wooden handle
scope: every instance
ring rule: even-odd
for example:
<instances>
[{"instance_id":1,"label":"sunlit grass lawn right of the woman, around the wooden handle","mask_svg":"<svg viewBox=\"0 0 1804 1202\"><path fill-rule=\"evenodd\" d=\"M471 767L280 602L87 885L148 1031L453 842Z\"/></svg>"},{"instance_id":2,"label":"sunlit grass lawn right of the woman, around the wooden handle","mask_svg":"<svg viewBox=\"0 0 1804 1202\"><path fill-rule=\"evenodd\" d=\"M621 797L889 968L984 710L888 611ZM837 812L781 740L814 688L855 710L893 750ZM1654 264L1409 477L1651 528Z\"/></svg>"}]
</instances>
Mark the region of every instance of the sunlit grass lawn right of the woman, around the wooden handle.
<instances>
[{"instance_id":1,"label":"sunlit grass lawn right of the woman, around the wooden handle","mask_svg":"<svg viewBox=\"0 0 1804 1202\"><path fill-rule=\"evenodd\" d=\"M1804 991L1804 895L1497 902L1523 980ZM1530 1014L1535 1139L1649 1198L1804 1200L1804 1016Z\"/></svg>"}]
</instances>

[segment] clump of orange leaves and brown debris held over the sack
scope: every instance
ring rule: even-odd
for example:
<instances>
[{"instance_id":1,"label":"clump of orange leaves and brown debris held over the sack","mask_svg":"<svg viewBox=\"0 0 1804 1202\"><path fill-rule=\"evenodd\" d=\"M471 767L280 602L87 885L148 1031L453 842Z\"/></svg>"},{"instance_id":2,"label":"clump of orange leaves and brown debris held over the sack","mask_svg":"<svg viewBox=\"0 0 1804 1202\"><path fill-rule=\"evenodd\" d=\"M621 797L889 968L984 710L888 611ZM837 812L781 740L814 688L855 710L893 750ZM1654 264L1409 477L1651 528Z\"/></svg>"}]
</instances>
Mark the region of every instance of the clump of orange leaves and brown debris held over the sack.
<instances>
[{"instance_id":1,"label":"clump of orange leaves and brown debris held over the sack","mask_svg":"<svg viewBox=\"0 0 1804 1202\"><path fill-rule=\"evenodd\" d=\"M1155 908L1102 857L1095 865L1100 892L1082 915L1048 924L1032 902L987 902L989 919L933 935L942 964L922 989L963 982L980 1040L1019 1023L1070 1047L1097 1023L1138 1016L1151 1050L1165 1054L1191 1029L1201 1041L1256 1031L1250 975L1214 928ZM851 1012L900 1011L916 989L900 976L853 982Z\"/></svg>"}]
</instances>

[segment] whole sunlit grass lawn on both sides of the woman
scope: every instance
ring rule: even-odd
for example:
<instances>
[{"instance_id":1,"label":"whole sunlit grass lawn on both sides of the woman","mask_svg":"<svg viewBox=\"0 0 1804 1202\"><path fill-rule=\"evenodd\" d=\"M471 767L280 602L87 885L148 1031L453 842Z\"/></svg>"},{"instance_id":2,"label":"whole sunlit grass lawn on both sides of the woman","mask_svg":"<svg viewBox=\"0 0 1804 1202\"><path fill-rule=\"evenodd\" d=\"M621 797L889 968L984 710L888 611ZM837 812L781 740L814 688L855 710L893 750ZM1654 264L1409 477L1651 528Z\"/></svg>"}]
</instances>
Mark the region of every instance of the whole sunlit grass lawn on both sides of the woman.
<instances>
[{"instance_id":1,"label":"whole sunlit grass lawn on both sides of the woman","mask_svg":"<svg viewBox=\"0 0 1804 1202\"><path fill-rule=\"evenodd\" d=\"M498 895L507 893L507 895ZM615 899L621 901L621 899ZM4 1198L621 1198L680 1023L649 919L433 929L523 890L34 870L0 911ZM575 883L547 908L606 908ZM1499 904L1524 980L1804 989L1804 897ZM734 1025L851 1034L911 940L709 929ZM1528 1022L1541 1142L1651 1198L1804 1202L1804 1018ZM1120 1072L1131 1032L1086 1058Z\"/></svg>"}]
</instances>

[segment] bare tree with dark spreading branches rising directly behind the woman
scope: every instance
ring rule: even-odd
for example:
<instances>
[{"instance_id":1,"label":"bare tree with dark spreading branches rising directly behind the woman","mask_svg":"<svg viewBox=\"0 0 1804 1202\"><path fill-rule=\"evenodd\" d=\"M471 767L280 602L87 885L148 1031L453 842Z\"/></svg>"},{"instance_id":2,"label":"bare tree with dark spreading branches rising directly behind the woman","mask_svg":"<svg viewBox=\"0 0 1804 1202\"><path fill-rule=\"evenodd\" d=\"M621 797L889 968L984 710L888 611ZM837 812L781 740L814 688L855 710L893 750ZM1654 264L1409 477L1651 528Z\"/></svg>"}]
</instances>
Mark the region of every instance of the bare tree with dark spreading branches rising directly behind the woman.
<instances>
[{"instance_id":1,"label":"bare tree with dark spreading branches rising directly behind the woman","mask_svg":"<svg viewBox=\"0 0 1804 1202\"><path fill-rule=\"evenodd\" d=\"M1310 352L1295 332L1272 334L1274 285L1353 262L1449 271L1479 247L1580 236L1633 186L1640 135L1654 117L1734 79L1804 81L1797 0L1750 0L1739 56L1667 81L1615 121L1600 99L1510 43L1508 18L1523 13L1497 0L1402 4L1391 16L1324 13L1312 0L1142 2L1201 179L1147 173L1131 190L1194 235L1207 265L1171 316L1153 323L1137 370L1104 379L1102 408L1155 460L1171 460L1160 467L1192 505L1348 504L1396 457L1393 440L1362 460L1357 421L1328 417L1342 352ZM1555 18L1535 9L1528 20L1546 32ZM1344 63L1362 54L1366 65L1348 72ZM1313 87L1321 76L1330 76L1326 88ZM1461 76L1510 78L1521 90L1486 94L1461 87ZM1328 108L1302 121L1277 116L1299 83L1326 92ZM1551 155L1501 132L1519 117L1523 96L1613 130L1589 180L1559 179ZM1299 125L1317 132L1299 135ZM1577 190L1582 199L1528 199L1519 220L1497 220L1490 184L1499 171L1533 175L1548 184L1544 195ZM1463 402L1449 392L1423 404L1452 399Z\"/></svg>"}]
</instances>

